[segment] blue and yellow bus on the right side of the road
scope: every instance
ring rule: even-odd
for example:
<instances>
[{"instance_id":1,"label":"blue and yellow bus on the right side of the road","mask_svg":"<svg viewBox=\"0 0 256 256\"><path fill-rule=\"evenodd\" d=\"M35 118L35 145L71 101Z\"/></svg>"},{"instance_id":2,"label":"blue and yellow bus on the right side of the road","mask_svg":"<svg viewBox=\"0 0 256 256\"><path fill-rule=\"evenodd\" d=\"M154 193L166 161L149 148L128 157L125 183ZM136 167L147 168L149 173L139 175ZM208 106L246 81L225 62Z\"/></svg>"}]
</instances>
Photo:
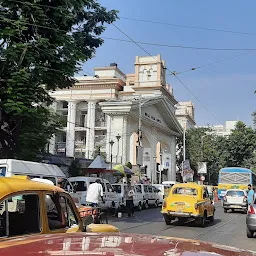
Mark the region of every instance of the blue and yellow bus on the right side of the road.
<instances>
[{"instance_id":1,"label":"blue and yellow bus on the right side of the road","mask_svg":"<svg viewBox=\"0 0 256 256\"><path fill-rule=\"evenodd\" d=\"M219 171L218 197L220 200L228 189L248 189L248 184L256 185L255 174L246 168L226 167Z\"/></svg>"}]
</instances>

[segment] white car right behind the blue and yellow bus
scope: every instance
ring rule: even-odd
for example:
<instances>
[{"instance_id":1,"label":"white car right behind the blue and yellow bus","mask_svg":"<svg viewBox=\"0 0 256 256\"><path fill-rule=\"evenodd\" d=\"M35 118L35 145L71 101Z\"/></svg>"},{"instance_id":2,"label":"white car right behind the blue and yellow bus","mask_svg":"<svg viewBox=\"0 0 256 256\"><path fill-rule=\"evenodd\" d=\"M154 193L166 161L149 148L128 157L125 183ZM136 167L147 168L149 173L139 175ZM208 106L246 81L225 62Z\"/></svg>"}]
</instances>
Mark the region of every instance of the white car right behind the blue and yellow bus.
<instances>
[{"instance_id":1,"label":"white car right behind the blue and yellow bus","mask_svg":"<svg viewBox=\"0 0 256 256\"><path fill-rule=\"evenodd\" d=\"M223 208L226 213L228 210L248 210L247 192L242 189L228 189L223 197Z\"/></svg>"}]
</instances>

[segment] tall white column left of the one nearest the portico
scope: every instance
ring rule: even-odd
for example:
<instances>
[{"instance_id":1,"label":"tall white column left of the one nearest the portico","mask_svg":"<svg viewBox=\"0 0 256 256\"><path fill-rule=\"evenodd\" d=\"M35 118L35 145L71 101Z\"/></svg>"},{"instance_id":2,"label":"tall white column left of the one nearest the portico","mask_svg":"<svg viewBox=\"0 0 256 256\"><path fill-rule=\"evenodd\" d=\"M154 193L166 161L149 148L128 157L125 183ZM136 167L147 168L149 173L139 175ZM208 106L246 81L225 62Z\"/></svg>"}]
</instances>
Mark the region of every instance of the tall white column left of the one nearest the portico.
<instances>
[{"instance_id":1,"label":"tall white column left of the one nearest the portico","mask_svg":"<svg viewBox=\"0 0 256 256\"><path fill-rule=\"evenodd\" d=\"M74 157L75 155L76 104L77 102L74 100L68 102L66 134L66 156L68 157Z\"/></svg>"}]
</instances>

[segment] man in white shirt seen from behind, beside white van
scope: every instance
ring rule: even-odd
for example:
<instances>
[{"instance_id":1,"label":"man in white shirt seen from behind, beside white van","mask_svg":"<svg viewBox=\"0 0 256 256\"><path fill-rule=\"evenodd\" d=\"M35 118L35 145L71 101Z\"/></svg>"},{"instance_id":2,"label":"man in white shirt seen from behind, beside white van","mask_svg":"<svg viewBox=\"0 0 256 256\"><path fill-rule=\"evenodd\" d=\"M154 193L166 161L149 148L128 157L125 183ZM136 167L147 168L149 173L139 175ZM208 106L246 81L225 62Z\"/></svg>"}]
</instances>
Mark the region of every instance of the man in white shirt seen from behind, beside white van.
<instances>
[{"instance_id":1,"label":"man in white shirt seen from behind, beside white van","mask_svg":"<svg viewBox=\"0 0 256 256\"><path fill-rule=\"evenodd\" d=\"M100 179L97 179L95 183L92 183L87 190L86 202L90 204L90 206L98 206L99 198L101 197L103 204L105 203L103 199L103 188L101 185Z\"/></svg>"}]
</instances>

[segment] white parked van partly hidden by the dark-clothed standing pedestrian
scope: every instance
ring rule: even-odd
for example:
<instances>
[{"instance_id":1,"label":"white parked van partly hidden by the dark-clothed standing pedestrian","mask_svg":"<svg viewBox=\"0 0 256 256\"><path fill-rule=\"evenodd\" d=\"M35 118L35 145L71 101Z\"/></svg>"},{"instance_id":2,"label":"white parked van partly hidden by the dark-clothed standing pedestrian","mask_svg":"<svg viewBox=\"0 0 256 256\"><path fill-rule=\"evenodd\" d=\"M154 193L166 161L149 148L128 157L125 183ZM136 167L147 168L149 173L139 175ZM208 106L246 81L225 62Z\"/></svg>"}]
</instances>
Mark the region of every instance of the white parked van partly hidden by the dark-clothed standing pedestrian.
<instances>
[{"instance_id":1,"label":"white parked van partly hidden by the dark-clothed standing pedestrian","mask_svg":"<svg viewBox=\"0 0 256 256\"><path fill-rule=\"evenodd\" d=\"M124 200L124 191L126 189L127 184L118 183L118 184L112 184L113 188L115 189L115 192L118 194L120 199L120 206L125 207L126 202ZM134 197L133 197L133 203L134 206L138 208L139 211L142 210L144 201L143 201L143 195L141 193L141 190L138 186L133 186L134 189Z\"/></svg>"}]
</instances>

